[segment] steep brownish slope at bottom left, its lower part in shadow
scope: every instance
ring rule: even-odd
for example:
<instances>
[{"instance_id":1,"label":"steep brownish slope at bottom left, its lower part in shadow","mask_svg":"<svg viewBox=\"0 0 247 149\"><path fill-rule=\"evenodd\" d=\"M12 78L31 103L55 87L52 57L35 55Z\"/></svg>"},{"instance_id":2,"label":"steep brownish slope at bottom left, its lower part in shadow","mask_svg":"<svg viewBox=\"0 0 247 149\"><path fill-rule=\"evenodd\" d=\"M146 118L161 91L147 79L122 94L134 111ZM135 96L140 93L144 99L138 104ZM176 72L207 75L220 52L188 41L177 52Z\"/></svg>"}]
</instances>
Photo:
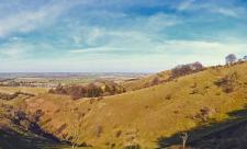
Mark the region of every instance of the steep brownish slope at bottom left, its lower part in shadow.
<instances>
[{"instance_id":1,"label":"steep brownish slope at bottom left, its lower part in shadow","mask_svg":"<svg viewBox=\"0 0 247 149\"><path fill-rule=\"evenodd\" d=\"M18 99L15 99L18 100ZM16 101L15 101L16 102ZM61 149L68 148L55 139L42 137L18 124L13 101L0 100L0 149ZM14 121L15 119L15 121ZM26 123L25 123L26 124Z\"/></svg>"}]
</instances>

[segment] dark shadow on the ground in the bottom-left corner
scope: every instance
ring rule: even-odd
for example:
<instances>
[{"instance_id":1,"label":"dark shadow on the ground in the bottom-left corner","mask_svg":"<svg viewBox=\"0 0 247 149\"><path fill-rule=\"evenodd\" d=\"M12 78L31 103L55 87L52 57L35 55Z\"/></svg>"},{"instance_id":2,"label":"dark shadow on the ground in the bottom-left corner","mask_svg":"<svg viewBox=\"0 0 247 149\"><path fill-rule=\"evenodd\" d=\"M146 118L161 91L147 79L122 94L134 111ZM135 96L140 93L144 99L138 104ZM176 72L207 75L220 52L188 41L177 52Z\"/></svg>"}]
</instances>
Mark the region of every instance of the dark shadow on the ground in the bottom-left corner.
<instances>
[{"instance_id":1,"label":"dark shadow on the ground in the bottom-left corner","mask_svg":"<svg viewBox=\"0 0 247 149\"><path fill-rule=\"evenodd\" d=\"M68 146L34 134L0 129L0 149L61 149L65 147Z\"/></svg>"}]
</instances>

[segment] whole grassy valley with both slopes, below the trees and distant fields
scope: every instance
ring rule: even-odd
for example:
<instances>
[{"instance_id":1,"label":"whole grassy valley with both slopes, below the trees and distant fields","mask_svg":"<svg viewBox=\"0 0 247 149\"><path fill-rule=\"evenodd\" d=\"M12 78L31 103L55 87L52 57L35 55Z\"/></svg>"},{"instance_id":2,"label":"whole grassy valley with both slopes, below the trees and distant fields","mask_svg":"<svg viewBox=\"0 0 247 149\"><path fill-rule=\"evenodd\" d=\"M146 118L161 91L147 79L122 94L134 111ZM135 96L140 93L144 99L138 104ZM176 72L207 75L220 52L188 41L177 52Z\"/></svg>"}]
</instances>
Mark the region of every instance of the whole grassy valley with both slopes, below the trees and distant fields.
<instances>
[{"instance_id":1,"label":"whole grassy valley with both slopes, below the trees and distant fields","mask_svg":"<svg viewBox=\"0 0 247 149\"><path fill-rule=\"evenodd\" d=\"M218 141L217 134L224 135L235 125L245 127L246 73L247 62L209 67L173 79L169 79L171 71L164 71L117 82L126 89L124 93L77 100L50 94L47 88L1 87L1 93L33 93L0 100L4 122L1 130L7 136L16 128L21 134L27 130L35 136L29 139L43 136L47 147L50 141L58 141L59 148L105 149L176 148L181 145L180 133L186 131L188 146L201 148L209 141ZM151 84L157 76L166 81ZM34 124L38 127L33 128ZM47 135L57 141L46 138Z\"/></svg>"}]
</instances>

